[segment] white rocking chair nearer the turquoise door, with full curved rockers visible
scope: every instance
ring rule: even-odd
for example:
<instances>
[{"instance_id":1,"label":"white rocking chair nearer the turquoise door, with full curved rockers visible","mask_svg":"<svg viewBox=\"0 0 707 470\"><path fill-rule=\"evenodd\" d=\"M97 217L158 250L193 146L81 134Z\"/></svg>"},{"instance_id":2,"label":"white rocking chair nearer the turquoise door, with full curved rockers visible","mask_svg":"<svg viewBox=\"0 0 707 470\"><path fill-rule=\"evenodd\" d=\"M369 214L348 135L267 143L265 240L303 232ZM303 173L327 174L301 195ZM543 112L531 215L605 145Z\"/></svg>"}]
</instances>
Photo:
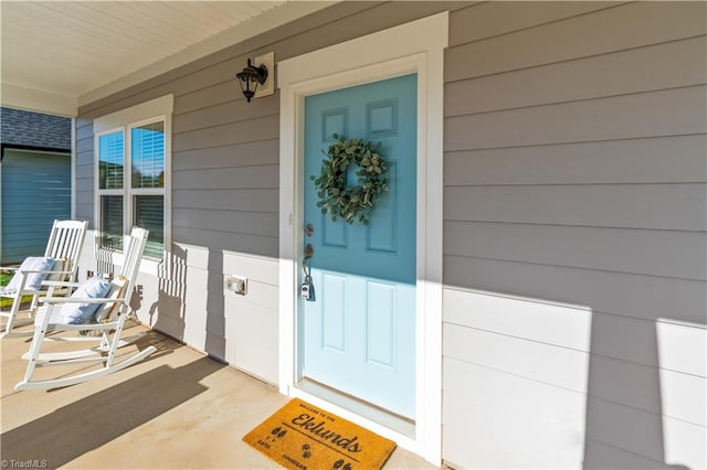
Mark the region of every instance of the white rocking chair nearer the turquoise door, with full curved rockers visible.
<instances>
[{"instance_id":1,"label":"white rocking chair nearer the turquoise door, with full curved rockers visible","mask_svg":"<svg viewBox=\"0 0 707 470\"><path fill-rule=\"evenodd\" d=\"M51 297L50 288L50 297L40 299L40 302L44 303L45 307L40 308L36 314L34 321L34 337L30 345L30 351L22 356L22 359L29 360L30 362L27 366L24 380L15 385L15 391L56 388L80 384L133 365L143 361L156 351L156 348L150 345L119 363L114 362L116 350L135 341L135 338L122 339L120 334L129 312L128 303L137 279L143 253L145 252L147 235L148 231L144 228L133 228L125 248L125 260L120 275L116 276L110 281L109 290L104 297L83 297L83 290L80 286L72 297ZM99 280L91 279L84 281L84 286L88 282L96 284L99 282ZM77 295L82 297L78 297ZM62 308L62 306L71 303L81 303L82 306L93 305L94 307L98 307L96 312L91 316L89 322L74 324L66 320L67 313ZM57 331L75 331L82 333L91 332L98 335L46 337L48 333ZM75 341L78 343L85 341L98 341L99 344L95 348L78 351L42 353L41 350L44 341L52 340L66 342ZM52 380L32 380L36 367L99 362L104 363L103 367L91 372L77 373L74 375L62 375Z\"/></svg>"}]
</instances>

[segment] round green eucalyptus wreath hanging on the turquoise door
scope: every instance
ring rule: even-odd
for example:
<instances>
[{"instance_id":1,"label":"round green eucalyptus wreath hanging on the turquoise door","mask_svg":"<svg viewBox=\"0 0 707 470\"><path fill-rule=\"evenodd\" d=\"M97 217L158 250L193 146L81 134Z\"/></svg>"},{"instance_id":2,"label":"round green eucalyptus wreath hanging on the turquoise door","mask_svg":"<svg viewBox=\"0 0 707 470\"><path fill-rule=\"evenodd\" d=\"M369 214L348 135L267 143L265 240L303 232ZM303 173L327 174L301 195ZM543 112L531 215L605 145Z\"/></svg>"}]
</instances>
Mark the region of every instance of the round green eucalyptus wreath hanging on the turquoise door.
<instances>
[{"instance_id":1,"label":"round green eucalyptus wreath hanging on the turquoise door","mask_svg":"<svg viewBox=\"0 0 707 470\"><path fill-rule=\"evenodd\" d=\"M321 173L309 179L317 189L321 213L331 213L331 220L344 218L349 224L355 221L368 225L369 215L382 192L388 191L388 164L378 153L380 142L373 146L362 139L347 139L334 135L336 143L324 152ZM346 185L349 164L356 164L358 185Z\"/></svg>"}]
</instances>

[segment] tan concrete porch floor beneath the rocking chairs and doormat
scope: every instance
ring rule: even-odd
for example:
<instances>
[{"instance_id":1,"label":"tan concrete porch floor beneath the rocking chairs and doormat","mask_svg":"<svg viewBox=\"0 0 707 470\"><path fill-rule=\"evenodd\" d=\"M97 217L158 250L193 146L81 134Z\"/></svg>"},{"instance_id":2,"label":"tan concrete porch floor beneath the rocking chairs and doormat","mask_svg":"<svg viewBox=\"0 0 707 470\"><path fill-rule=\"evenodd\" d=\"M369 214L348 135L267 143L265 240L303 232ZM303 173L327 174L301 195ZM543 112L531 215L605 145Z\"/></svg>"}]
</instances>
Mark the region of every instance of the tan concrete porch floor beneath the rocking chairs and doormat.
<instances>
[{"instance_id":1,"label":"tan concrete porch floor beneath the rocking chairs and doormat","mask_svg":"<svg viewBox=\"0 0 707 470\"><path fill-rule=\"evenodd\" d=\"M31 331L31 327L18 331ZM1 342L2 468L272 469L279 468L241 440L287 402L272 386L141 325L122 356L147 344L157 352L106 377L53 391L14 392L29 338ZM52 344L61 348L61 344ZM120 357L118 357L120 360ZM77 370L80 366L73 366ZM85 366L84 366L85 367ZM71 366L39 370L56 376ZM387 469L432 469L397 449Z\"/></svg>"}]
</instances>

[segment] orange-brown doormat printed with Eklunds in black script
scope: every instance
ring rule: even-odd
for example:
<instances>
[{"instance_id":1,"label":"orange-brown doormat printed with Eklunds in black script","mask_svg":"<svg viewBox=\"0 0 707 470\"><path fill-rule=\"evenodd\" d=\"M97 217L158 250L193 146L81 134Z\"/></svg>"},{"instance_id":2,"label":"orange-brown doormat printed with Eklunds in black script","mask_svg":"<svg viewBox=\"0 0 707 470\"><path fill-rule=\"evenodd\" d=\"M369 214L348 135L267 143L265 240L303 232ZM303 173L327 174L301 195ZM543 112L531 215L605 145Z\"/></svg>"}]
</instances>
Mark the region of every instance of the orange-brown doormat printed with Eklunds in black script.
<instances>
[{"instance_id":1,"label":"orange-brown doormat printed with Eklunds in black script","mask_svg":"<svg viewBox=\"0 0 707 470\"><path fill-rule=\"evenodd\" d=\"M300 399L292 399L243 440L292 470L380 469L395 442Z\"/></svg>"}]
</instances>

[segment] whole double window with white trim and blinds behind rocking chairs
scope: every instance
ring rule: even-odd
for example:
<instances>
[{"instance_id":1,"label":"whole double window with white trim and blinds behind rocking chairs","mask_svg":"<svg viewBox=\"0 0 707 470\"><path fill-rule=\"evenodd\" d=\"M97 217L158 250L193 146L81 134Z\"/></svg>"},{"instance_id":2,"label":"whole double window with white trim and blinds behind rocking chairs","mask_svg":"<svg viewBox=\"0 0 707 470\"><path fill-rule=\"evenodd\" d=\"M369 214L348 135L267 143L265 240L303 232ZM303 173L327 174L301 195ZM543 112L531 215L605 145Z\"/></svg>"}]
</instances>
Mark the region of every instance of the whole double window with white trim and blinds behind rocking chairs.
<instances>
[{"instance_id":1,"label":"whole double window with white trim and blinds behind rocking chairs","mask_svg":"<svg viewBox=\"0 0 707 470\"><path fill-rule=\"evenodd\" d=\"M143 118L147 105L94 121L97 243L120 252L124 237L139 226L149 231L145 257L161 260L169 243L171 99L167 115Z\"/></svg>"}]
</instances>

